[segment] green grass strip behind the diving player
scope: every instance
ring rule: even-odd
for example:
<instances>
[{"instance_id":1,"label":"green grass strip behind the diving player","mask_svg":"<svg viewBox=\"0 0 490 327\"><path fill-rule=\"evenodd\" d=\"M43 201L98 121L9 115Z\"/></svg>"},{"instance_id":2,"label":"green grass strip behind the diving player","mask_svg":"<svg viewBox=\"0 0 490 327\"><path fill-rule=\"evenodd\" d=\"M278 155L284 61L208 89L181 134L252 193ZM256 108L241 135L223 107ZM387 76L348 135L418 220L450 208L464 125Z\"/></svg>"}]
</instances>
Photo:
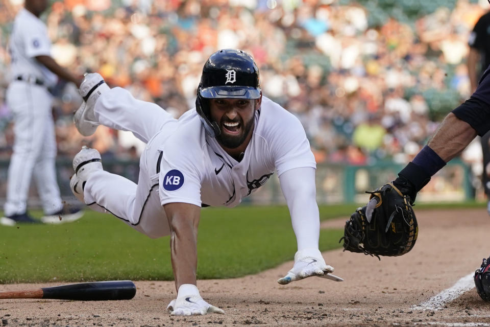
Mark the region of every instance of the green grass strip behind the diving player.
<instances>
[{"instance_id":1,"label":"green grass strip behind the diving player","mask_svg":"<svg viewBox=\"0 0 490 327\"><path fill-rule=\"evenodd\" d=\"M356 204L320 207L322 220L346 217ZM418 209L484 207L418 204ZM40 216L40 212L34 212ZM150 239L118 219L87 210L62 225L1 227L0 283L112 279L171 280L169 238ZM339 248L340 229L322 230L320 249ZM285 206L206 208L198 237L198 278L257 273L292 260L296 239Z\"/></svg>"}]
</instances>

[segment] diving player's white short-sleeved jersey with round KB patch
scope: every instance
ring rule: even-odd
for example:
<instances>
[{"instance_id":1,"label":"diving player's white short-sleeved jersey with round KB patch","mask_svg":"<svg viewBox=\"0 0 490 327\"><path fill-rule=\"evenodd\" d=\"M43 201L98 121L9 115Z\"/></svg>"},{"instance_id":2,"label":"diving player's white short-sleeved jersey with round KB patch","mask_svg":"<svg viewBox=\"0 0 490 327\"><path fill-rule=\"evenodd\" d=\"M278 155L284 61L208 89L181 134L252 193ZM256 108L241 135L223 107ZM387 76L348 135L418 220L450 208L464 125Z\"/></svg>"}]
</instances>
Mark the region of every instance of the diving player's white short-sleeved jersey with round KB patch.
<instances>
[{"instance_id":1,"label":"diving player's white short-sleeved jersey with round KB patch","mask_svg":"<svg viewBox=\"0 0 490 327\"><path fill-rule=\"evenodd\" d=\"M159 194L171 202L198 206L239 204L277 170L316 168L300 121L279 104L263 97L255 113L253 136L240 162L209 137L200 116L189 110L159 147L163 152Z\"/></svg>"}]
</instances>

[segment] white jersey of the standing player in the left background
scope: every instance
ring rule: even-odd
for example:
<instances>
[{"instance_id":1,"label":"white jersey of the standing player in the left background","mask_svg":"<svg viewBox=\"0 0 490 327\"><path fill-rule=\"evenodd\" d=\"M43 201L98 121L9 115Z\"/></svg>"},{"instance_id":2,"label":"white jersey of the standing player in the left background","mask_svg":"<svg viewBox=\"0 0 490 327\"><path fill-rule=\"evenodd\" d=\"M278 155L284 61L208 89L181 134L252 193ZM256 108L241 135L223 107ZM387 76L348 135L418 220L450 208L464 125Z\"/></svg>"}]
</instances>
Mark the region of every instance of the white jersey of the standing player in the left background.
<instances>
[{"instance_id":1,"label":"white jersey of the standing player in the left background","mask_svg":"<svg viewBox=\"0 0 490 327\"><path fill-rule=\"evenodd\" d=\"M36 56L51 56L51 41L41 19L20 9L14 20L9 40L11 56L10 78L34 76L46 86L56 84L58 77L36 60Z\"/></svg>"}]
</instances>

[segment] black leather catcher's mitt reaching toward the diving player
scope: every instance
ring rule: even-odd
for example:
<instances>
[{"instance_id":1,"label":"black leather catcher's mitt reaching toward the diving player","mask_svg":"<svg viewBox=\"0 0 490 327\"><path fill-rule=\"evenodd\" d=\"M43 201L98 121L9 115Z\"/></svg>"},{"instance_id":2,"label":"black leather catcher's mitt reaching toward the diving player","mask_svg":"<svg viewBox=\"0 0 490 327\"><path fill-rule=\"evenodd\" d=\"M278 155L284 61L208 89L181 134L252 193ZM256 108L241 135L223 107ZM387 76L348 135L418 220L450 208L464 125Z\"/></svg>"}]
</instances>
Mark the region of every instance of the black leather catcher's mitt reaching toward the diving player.
<instances>
[{"instance_id":1,"label":"black leather catcher's mitt reaching toward the diving player","mask_svg":"<svg viewBox=\"0 0 490 327\"><path fill-rule=\"evenodd\" d=\"M419 233L410 198L392 183L371 194L367 206L357 208L344 228L344 251L377 256L410 251Z\"/></svg>"}]
</instances>

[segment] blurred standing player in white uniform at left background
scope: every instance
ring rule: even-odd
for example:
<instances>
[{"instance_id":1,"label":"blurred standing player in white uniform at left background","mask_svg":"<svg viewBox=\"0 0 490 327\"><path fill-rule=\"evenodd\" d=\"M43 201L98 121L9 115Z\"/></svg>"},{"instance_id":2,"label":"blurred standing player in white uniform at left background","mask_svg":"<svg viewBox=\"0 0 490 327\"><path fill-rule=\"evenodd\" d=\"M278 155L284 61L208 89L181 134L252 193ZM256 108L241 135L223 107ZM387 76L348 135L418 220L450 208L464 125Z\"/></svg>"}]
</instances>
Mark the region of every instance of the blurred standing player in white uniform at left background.
<instances>
[{"instance_id":1,"label":"blurred standing player in white uniform at left background","mask_svg":"<svg viewBox=\"0 0 490 327\"><path fill-rule=\"evenodd\" d=\"M31 177L36 180L44 210L44 222L66 222L83 214L78 208L64 208L55 172L56 139L52 115L53 97L48 87L58 77L80 86L77 78L51 57L51 41L39 15L47 0L26 0L13 24L9 40L11 54L7 105L14 118L14 148L10 158L3 225L38 222L27 213ZM62 217L60 220L59 217Z\"/></svg>"}]
</instances>

